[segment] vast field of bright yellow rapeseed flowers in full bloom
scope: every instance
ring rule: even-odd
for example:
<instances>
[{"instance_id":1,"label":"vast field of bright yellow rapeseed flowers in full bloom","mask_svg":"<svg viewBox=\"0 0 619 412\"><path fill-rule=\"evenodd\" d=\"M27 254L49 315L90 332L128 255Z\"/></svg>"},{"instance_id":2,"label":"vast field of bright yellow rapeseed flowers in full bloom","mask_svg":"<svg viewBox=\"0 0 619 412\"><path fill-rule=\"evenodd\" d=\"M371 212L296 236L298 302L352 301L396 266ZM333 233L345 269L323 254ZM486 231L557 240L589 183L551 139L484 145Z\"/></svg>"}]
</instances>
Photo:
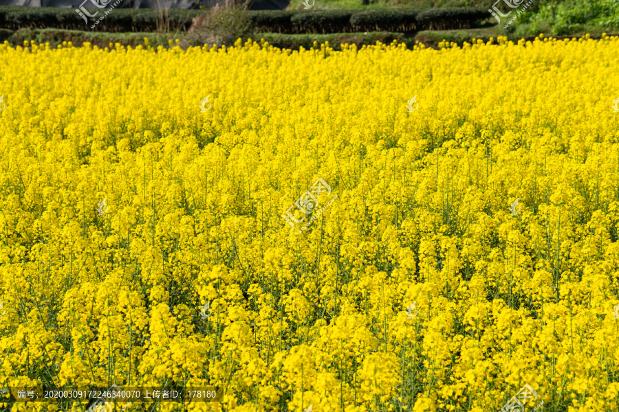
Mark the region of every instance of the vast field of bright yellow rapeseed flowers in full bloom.
<instances>
[{"instance_id":1,"label":"vast field of bright yellow rapeseed flowers in full bloom","mask_svg":"<svg viewBox=\"0 0 619 412\"><path fill-rule=\"evenodd\" d=\"M618 61L0 45L0 409L618 411Z\"/></svg>"}]
</instances>

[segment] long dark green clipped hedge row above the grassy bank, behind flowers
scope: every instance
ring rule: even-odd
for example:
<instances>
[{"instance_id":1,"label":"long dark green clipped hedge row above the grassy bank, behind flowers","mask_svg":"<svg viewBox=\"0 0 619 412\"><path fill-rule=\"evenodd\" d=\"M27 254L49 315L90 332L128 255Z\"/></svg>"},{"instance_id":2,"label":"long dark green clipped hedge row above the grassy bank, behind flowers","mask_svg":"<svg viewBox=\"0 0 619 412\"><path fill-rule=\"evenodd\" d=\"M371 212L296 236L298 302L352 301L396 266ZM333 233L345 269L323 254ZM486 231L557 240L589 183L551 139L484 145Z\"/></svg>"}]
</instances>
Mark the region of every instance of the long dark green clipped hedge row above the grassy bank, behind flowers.
<instances>
[{"instance_id":1,"label":"long dark green clipped hedge row above the grassy bank, behind flowers","mask_svg":"<svg viewBox=\"0 0 619 412\"><path fill-rule=\"evenodd\" d=\"M94 21L104 15L98 11L88 23L73 8L0 7L0 28L56 28L63 30L91 30ZM172 9L167 11L171 30L186 31L200 10ZM454 30L476 27L488 19L487 10L471 8L438 8L417 10L249 10L248 19L257 32L282 34L296 33L351 33L351 32L415 32L420 30ZM115 9L97 25L98 32L155 32L161 25L161 14L149 9Z\"/></svg>"}]
</instances>

